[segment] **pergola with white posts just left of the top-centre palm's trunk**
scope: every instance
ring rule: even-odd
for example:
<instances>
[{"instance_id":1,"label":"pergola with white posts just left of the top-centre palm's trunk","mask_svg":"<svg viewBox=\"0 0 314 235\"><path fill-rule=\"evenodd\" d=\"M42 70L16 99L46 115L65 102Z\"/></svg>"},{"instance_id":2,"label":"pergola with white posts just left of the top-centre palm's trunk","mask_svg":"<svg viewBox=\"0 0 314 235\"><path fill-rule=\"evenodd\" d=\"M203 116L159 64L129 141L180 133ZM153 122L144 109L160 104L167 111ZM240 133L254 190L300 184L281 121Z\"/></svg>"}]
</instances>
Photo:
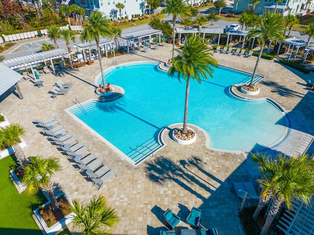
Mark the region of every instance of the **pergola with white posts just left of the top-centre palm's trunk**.
<instances>
[{"instance_id":1,"label":"pergola with white posts just left of the top-centre palm's trunk","mask_svg":"<svg viewBox=\"0 0 314 235\"><path fill-rule=\"evenodd\" d=\"M162 31L158 29L146 28L146 29L135 31L135 32L122 34L120 38L127 40L128 53L130 54L130 42L131 41L138 40L138 43L140 44L142 41L142 38L149 37L149 42L151 42L153 35L156 35L156 37L157 35L159 35L159 45L160 45L161 32ZM149 43L149 47L151 48L150 43ZM140 50L140 45L138 45L138 50Z\"/></svg>"}]
</instances>

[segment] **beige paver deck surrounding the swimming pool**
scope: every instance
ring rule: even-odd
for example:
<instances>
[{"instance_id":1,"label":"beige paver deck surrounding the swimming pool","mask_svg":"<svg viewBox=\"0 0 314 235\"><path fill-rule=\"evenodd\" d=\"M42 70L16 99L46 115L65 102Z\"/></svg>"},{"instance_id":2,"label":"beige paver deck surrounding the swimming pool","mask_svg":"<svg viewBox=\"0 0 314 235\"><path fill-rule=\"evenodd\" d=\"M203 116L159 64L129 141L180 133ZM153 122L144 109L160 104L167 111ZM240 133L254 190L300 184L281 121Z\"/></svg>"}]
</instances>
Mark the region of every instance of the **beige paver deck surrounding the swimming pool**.
<instances>
[{"instance_id":1,"label":"beige paver deck surrounding the swimming pool","mask_svg":"<svg viewBox=\"0 0 314 235\"><path fill-rule=\"evenodd\" d=\"M120 65L134 61L164 63L171 58L171 49L169 44L158 50L154 47L148 49L147 53L142 49L132 54L104 58L103 64L109 68L114 60ZM253 72L257 59L254 56L244 58L219 53L215 53L214 58L221 65L247 72ZM199 130L197 141L188 146L172 141L166 131L164 139L167 145L155 153L153 158L134 168L64 111L75 105L76 98L79 102L97 99L94 93L95 77L99 73L99 61L95 61L91 66L86 65L73 71L59 71L56 76L43 74L40 77L44 81L43 88L34 86L30 80L22 80L19 85L24 99L10 94L0 102L0 111L10 123L19 123L26 128L26 156L54 156L60 159L63 170L52 180L71 198L87 202L92 195L105 195L108 204L115 208L121 218L113 231L115 235L158 235L160 229L165 229L162 214L167 208L182 219L176 230L190 228L183 221L193 206L202 210L203 227L215 227L219 235L244 234L232 182L255 182L259 177L250 157L242 152L221 152L206 148L205 136ZM306 150L313 153L314 94L305 86L305 81L313 73L305 75L277 62L262 59L258 74L264 75L264 79L259 83L261 93L254 98L269 97L277 102L287 112L291 125L286 140L271 151L287 155ZM53 99L48 92L60 78L74 84L69 94L58 95ZM92 186L74 164L40 133L40 128L32 123L34 119L51 117L56 118L69 133L110 166L117 177L100 190ZM106 125L105 119L99 124ZM69 228L73 230L71 225ZM179 231L176 234L180 234ZM197 234L200 234L199 230Z\"/></svg>"}]
</instances>

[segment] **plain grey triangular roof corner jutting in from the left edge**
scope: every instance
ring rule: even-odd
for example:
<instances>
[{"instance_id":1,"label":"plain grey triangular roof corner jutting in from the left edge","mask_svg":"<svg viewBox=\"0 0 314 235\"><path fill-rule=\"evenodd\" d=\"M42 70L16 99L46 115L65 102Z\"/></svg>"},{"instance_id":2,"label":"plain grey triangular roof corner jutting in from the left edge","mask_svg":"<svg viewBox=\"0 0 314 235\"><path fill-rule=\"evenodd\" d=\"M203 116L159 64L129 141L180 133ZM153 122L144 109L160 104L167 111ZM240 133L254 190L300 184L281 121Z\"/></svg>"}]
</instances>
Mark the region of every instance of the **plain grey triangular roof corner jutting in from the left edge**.
<instances>
[{"instance_id":1,"label":"plain grey triangular roof corner jutting in from the left edge","mask_svg":"<svg viewBox=\"0 0 314 235\"><path fill-rule=\"evenodd\" d=\"M0 95L9 90L15 83L23 78L20 73L9 69L0 63Z\"/></svg>"}]
</instances>

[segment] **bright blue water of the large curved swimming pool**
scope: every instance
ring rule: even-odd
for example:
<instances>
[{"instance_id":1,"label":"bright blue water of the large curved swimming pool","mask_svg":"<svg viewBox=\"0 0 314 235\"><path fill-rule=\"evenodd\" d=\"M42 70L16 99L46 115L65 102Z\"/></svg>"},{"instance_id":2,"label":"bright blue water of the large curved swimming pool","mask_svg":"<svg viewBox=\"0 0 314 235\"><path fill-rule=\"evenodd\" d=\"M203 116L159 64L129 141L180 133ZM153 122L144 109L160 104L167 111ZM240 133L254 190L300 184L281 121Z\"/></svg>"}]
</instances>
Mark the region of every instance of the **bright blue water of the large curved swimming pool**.
<instances>
[{"instance_id":1,"label":"bright blue water of the large curved swimming pool","mask_svg":"<svg viewBox=\"0 0 314 235\"><path fill-rule=\"evenodd\" d=\"M137 163L149 149L159 147L157 135L162 127L183 122L186 83L158 70L156 63L120 66L105 76L125 95L112 102L82 104L87 116L78 107L70 112ZM286 120L272 103L244 101L229 94L229 87L248 82L249 74L221 67L213 76L201 85L191 81L188 109L188 123L209 134L212 148L258 149L283 136ZM137 152L141 148L146 149L143 156Z\"/></svg>"}]
</instances>

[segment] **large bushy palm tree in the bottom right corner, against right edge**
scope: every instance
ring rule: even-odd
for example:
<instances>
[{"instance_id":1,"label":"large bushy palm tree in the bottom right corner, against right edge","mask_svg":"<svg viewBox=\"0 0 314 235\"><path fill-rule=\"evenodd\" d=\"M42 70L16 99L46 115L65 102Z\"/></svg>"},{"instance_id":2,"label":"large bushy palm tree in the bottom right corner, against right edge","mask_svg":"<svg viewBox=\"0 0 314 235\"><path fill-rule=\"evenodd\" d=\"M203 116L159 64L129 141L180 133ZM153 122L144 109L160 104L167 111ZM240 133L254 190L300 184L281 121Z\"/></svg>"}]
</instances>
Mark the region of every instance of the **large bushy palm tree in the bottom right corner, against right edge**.
<instances>
[{"instance_id":1,"label":"large bushy palm tree in the bottom right corner, against right edge","mask_svg":"<svg viewBox=\"0 0 314 235\"><path fill-rule=\"evenodd\" d=\"M314 157L309 158L307 154L290 158L279 155L273 160L264 154L253 154L252 160L259 164L259 169L263 174L258 180L262 188L260 197L272 197L260 234L267 235L271 223L284 202L288 210L293 200L303 201L306 205L311 202L314 194ZM257 217L256 214L254 215Z\"/></svg>"}]
</instances>

